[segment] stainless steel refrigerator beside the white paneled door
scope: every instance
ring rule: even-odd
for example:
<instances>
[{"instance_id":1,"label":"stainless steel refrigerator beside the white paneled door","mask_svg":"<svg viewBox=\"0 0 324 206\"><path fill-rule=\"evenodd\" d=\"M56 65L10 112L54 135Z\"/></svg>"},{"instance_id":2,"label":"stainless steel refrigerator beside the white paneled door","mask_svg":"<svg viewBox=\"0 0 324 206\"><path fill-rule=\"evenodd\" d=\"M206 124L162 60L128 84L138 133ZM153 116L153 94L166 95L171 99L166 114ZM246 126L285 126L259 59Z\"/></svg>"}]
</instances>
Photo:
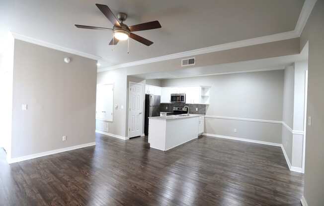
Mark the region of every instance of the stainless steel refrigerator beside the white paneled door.
<instances>
[{"instance_id":1,"label":"stainless steel refrigerator beside the white paneled door","mask_svg":"<svg viewBox=\"0 0 324 206\"><path fill-rule=\"evenodd\" d=\"M145 135L149 134L149 117L160 116L160 104L160 95L145 95Z\"/></svg>"}]
</instances>

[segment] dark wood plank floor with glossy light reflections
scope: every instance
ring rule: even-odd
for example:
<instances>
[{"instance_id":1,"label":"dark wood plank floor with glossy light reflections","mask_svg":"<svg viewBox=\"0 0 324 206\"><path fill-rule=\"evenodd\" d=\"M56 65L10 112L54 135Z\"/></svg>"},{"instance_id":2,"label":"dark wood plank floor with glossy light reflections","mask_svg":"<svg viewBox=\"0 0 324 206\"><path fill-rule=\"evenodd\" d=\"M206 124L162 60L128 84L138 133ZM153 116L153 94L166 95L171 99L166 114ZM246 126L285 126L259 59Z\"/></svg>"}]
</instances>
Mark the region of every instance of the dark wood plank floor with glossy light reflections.
<instances>
[{"instance_id":1,"label":"dark wood plank floor with glossy light reflections","mask_svg":"<svg viewBox=\"0 0 324 206\"><path fill-rule=\"evenodd\" d=\"M304 177L279 147L201 137L165 153L147 139L97 134L96 146L7 165L2 206L301 206Z\"/></svg>"}]
</instances>

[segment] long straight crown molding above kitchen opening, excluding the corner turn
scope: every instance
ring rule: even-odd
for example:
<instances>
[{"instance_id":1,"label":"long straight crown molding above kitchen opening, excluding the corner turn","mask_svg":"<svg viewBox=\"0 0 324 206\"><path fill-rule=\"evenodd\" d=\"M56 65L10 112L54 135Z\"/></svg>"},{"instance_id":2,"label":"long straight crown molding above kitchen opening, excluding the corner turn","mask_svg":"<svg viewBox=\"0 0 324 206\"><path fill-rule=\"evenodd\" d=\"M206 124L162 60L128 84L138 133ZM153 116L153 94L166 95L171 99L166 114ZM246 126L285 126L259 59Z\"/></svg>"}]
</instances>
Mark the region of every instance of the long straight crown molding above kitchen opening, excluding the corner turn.
<instances>
[{"instance_id":1,"label":"long straight crown molding above kitchen opening, excluding the corner turn","mask_svg":"<svg viewBox=\"0 0 324 206\"><path fill-rule=\"evenodd\" d=\"M224 50L236 49L236 48L241 48L241 47L248 47L248 46L276 42L276 41L282 41L282 40L293 39L293 38L298 38L298 37L299 36L295 31L283 32L283 33L272 34L272 35L263 36L263 37L257 37L257 38L253 38L253 39L247 39L247 40L242 40L242 41L237 41L237 42L215 45L215 46L211 46L211 47L200 48L200 49L196 49L196 50L172 53L172 54L168 54L168 55L164 55L164 56L158 56L158 57L143 59L143 60L139 60L139 61L117 64L114 66L103 67L103 68L98 69L98 72L109 71L109 70L113 70L113 69L119 69L119 68L130 67L130 66L137 66L137 65L148 64L148 63L154 63L154 62L158 62L158 61L165 61L165 60L176 59L176 58L183 58L183 57L187 57L187 56L194 56L194 55L210 53L210 52L224 51Z\"/></svg>"}]
</instances>

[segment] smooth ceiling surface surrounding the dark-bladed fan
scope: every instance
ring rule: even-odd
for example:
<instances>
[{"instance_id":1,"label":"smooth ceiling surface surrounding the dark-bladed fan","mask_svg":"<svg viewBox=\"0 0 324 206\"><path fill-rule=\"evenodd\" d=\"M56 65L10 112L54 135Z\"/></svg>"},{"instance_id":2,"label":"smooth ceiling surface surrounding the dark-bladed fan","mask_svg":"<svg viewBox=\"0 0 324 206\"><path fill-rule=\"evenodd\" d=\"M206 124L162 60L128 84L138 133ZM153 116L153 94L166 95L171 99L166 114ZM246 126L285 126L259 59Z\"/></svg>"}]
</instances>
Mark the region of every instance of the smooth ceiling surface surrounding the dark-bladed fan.
<instances>
[{"instance_id":1,"label":"smooth ceiling surface surrounding the dark-bladed fan","mask_svg":"<svg viewBox=\"0 0 324 206\"><path fill-rule=\"evenodd\" d=\"M159 20L162 28L136 32L154 44L130 41L108 46L110 31L81 30L74 24L112 27L95 6L126 12L126 24ZM100 56L102 66L292 31L304 0L0 0L0 35L11 31ZM113 51L112 51L113 49Z\"/></svg>"}]
</instances>

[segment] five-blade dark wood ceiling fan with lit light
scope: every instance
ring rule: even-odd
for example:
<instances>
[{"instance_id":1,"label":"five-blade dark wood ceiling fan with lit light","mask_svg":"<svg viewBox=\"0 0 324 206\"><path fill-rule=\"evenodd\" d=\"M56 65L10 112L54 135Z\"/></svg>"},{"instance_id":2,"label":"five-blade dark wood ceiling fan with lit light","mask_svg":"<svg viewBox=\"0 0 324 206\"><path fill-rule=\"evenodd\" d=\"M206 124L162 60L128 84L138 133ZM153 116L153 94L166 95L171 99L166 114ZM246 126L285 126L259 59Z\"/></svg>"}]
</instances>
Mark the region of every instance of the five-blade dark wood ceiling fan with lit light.
<instances>
[{"instance_id":1,"label":"five-blade dark wood ceiling fan with lit light","mask_svg":"<svg viewBox=\"0 0 324 206\"><path fill-rule=\"evenodd\" d=\"M109 21L114 25L114 27L110 29L104 27L85 26L79 24L75 24L75 26L81 29L112 30L113 38L110 41L109 45L117 45L119 41L128 40L128 38L132 38L146 46L150 46L153 44L153 42L141 36L138 36L132 32L158 29L162 27L159 21L150 21L142 24L133 25L133 26L127 26L126 24L123 23L127 19L126 13L118 13L117 14L118 19L117 19L107 5L98 4L98 3L96 3L95 5L109 19Z\"/></svg>"}]
</instances>

